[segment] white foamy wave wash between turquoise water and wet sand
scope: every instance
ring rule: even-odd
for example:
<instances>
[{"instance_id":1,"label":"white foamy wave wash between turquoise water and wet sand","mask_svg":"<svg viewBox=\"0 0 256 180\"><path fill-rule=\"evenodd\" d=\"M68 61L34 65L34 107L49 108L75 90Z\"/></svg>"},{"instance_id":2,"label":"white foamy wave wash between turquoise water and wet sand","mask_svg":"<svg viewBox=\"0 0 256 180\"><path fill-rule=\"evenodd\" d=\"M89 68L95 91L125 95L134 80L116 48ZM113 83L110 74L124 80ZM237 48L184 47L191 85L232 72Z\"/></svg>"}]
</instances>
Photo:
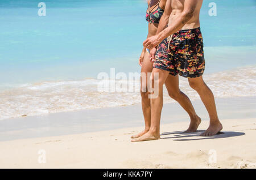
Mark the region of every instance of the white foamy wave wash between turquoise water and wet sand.
<instances>
[{"instance_id":1,"label":"white foamy wave wash between turquoise water and wet sand","mask_svg":"<svg viewBox=\"0 0 256 180\"><path fill-rule=\"evenodd\" d=\"M215 97L255 96L256 66L235 68L229 71L205 74L204 81L212 89ZM123 87L115 92L98 91L101 80L85 79L76 81L41 82L23 84L19 87L0 91L0 119L67 112L81 109L106 108L134 105L141 102L139 80L115 84L133 84L137 89L127 92ZM121 88L121 89L120 89ZM199 95L185 78L180 77L180 89L191 100ZM164 103L175 102L164 88Z\"/></svg>"}]
</instances>

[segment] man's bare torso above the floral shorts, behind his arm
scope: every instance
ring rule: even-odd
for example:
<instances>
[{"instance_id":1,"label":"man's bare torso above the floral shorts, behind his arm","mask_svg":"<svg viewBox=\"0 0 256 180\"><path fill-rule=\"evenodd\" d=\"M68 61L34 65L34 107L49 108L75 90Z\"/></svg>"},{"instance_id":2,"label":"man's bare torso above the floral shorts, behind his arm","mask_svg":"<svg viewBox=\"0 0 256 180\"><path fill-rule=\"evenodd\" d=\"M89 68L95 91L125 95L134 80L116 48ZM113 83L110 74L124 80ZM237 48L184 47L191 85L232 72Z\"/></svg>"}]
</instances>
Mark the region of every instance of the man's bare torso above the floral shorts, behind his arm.
<instances>
[{"instance_id":1,"label":"man's bare torso above the floral shorts, behind his arm","mask_svg":"<svg viewBox=\"0 0 256 180\"><path fill-rule=\"evenodd\" d=\"M184 2L185 0L172 0L171 2L172 12L169 18L168 25L170 25L171 22L183 12ZM200 14L202 3L203 3L203 0L198 0L197 5L193 7L195 8L195 11L192 19L190 19L189 22L187 22L181 29L193 29L193 28L200 27L199 14Z\"/></svg>"}]
</instances>

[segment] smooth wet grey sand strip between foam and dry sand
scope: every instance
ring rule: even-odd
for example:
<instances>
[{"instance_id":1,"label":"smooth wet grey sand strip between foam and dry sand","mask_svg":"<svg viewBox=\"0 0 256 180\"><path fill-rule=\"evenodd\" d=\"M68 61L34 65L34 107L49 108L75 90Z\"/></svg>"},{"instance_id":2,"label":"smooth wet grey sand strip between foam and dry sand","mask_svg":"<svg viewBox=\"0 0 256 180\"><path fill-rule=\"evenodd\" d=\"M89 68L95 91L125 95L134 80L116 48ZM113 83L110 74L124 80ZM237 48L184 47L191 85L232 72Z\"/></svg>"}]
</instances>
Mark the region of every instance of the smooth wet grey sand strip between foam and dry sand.
<instances>
[{"instance_id":1,"label":"smooth wet grey sand strip between foam and dry sand","mask_svg":"<svg viewBox=\"0 0 256 180\"><path fill-rule=\"evenodd\" d=\"M203 102L195 100L192 104L199 117L209 121ZM216 105L220 120L256 118L256 96L216 98ZM187 122L188 126L189 116L177 102L164 104L161 125L174 122ZM143 123L141 105L10 118L0 121L0 142L117 130L123 127L143 128Z\"/></svg>"}]
</instances>

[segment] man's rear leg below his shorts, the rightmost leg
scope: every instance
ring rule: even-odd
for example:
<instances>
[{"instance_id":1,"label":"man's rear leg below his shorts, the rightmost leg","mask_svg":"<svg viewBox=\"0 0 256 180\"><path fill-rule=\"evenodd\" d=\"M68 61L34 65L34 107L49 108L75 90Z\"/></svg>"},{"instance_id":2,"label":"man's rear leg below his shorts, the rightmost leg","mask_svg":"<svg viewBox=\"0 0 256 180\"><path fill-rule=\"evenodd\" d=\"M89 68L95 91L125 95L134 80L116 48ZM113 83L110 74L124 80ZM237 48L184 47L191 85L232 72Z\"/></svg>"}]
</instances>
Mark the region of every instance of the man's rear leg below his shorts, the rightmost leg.
<instances>
[{"instance_id":1,"label":"man's rear leg below his shorts, the rightmost leg","mask_svg":"<svg viewBox=\"0 0 256 180\"><path fill-rule=\"evenodd\" d=\"M203 101L205 108L207 109L210 117L210 126L202 134L203 136L216 135L222 130L222 125L218 120L216 105L214 101L214 96L207 84L204 83L203 77L198 78L188 78L189 85L191 88L195 89L201 100Z\"/></svg>"}]
</instances>

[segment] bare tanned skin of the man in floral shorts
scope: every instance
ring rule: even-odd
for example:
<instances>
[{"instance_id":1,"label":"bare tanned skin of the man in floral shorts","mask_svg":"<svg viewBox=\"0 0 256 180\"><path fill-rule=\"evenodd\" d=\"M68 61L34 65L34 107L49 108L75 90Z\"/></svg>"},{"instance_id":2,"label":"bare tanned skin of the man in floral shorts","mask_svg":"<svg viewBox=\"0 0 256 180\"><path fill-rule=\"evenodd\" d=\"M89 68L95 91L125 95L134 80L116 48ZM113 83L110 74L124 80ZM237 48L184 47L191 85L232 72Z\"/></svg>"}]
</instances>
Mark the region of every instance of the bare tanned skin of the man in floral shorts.
<instances>
[{"instance_id":1,"label":"bare tanned skin of the man in floral shorts","mask_svg":"<svg viewBox=\"0 0 256 180\"><path fill-rule=\"evenodd\" d=\"M164 40L164 38L172 35L180 29L193 29L200 27L199 14L203 0L167 0L164 12L170 14L168 20L166 16L160 19L159 28L155 36L148 37L143 42L143 46L151 49L150 58L154 61L156 49L155 47ZM166 24L168 27L166 28ZM159 74L159 96L151 99L151 126L150 130L143 136L136 138L133 142L144 140L160 139L160 115L163 106L163 84L166 82L169 72L153 68L151 80L154 84L154 74ZM210 125L203 136L216 135L222 130L222 125L218 119L214 96L207 84L204 83L203 77L188 78L189 85L199 93L205 108L209 113ZM197 126L197 122L192 122L190 126Z\"/></svg>"}]
</instances>

